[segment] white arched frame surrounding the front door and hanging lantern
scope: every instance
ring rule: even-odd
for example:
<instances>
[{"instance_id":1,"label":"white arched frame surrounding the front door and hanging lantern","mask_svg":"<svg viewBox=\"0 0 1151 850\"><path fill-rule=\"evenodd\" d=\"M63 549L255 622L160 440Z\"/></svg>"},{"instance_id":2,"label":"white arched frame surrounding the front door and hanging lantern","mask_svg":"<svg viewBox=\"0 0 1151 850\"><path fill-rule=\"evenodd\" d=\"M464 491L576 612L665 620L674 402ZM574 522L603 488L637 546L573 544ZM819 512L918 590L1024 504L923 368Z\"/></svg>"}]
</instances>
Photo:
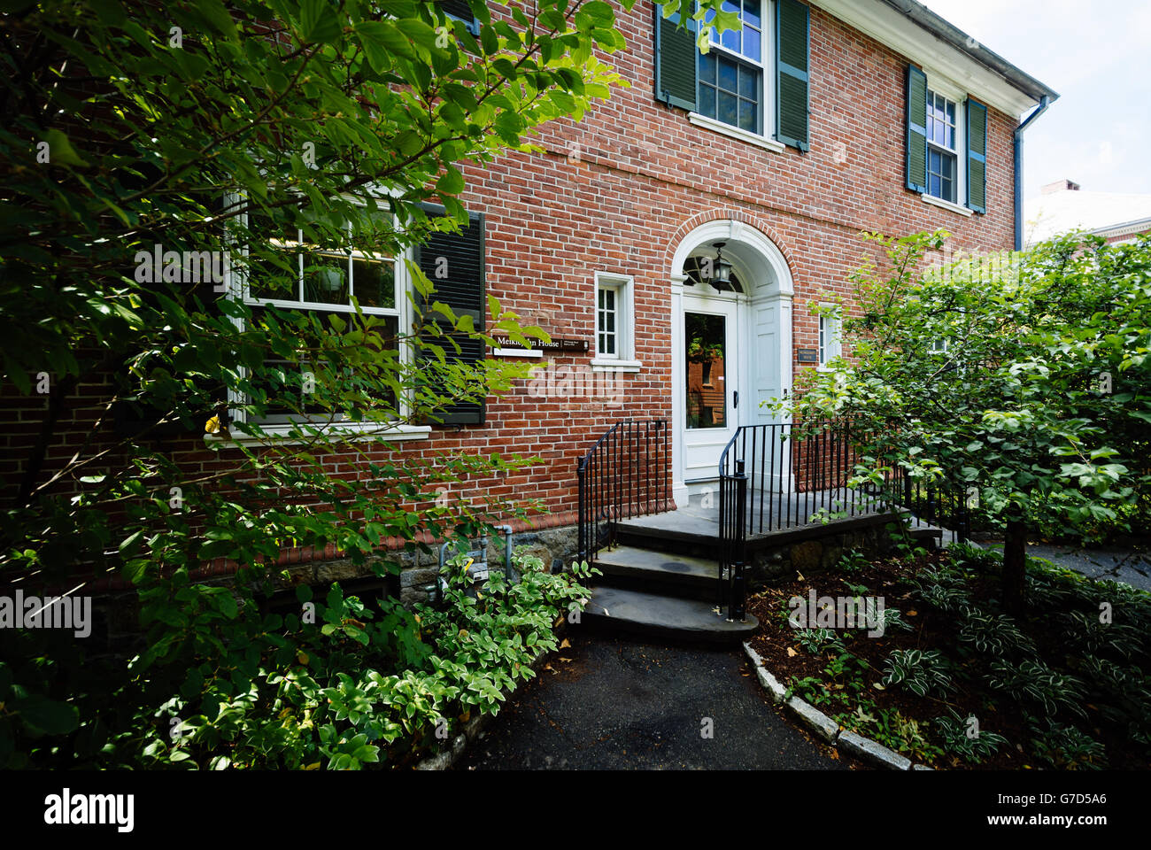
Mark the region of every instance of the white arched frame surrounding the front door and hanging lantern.
<instances>
[{"instance_id":1,"label":"white arched frame surrounding the front door and hanging lantern","mask_svg":"<svg viewBox=\"0 0 1151 850\"><path fill-rule=\"evenodd\" d=\"M735 415L737 425L752 425L760 422L779 422L778 416L764 416L759 408L754 382L757 379L756 369L764 363L773 362L767 384L778 387L783 394L792 390L792 298L794 287L791 268L783 252L776 244L755 227L741 221L724 219L711 221L692 230L677 245L672 258L669 279L671 282L671 410L672 410L672 498L676 504L684 507L688 500L688 485L684 480L684 441L687 423L687 405L684 397L684 263L696 249L711 245L715 242L726 242L724 258L730 258L735 266L740 280L750 286L750 293L731 296L721 294L717 297L734 298L737 310L735 337L740 340L738 356L738 380L740 386L740 404ZM696 284L701 286L701 284ZM707 284L702 284L707 286ZM692 287L687 287L691 291ZM689 299L691 301L691 299ZM764 309L775 317L777 327L767 339L773 339L770 352L757 352L754 316ZM726 387L727 392L734 389ZM745 402L746 400L746 402ZM729 396L729 403L731 396ZM718 460L718 458L717 458ZM716 471L718 478L718 468ZM698 489L698 487L692 487Z\"/></svg>"}]
</instances>

